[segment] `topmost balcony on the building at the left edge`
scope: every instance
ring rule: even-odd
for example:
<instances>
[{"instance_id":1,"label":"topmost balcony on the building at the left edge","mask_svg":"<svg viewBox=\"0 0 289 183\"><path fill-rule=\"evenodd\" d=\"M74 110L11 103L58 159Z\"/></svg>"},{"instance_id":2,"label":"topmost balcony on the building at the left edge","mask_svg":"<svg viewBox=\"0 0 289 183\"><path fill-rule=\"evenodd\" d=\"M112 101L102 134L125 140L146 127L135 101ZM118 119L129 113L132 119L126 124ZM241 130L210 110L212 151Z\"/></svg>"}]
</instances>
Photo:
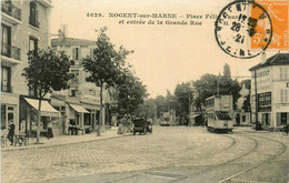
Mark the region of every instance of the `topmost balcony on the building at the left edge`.
<instances>
[{"instance_id":1,"label":"topmost balcony on the building at the left edge","mask_svg":"<svg viewBox=\"0 0 289 183\"><path fill-rule=\"evenodd\" d=\"M8 19L13 24L21 23L21 9L13 6L11 2L2 1L1 2L1 12L2 16Z\"/></svg>"}]
</instances>

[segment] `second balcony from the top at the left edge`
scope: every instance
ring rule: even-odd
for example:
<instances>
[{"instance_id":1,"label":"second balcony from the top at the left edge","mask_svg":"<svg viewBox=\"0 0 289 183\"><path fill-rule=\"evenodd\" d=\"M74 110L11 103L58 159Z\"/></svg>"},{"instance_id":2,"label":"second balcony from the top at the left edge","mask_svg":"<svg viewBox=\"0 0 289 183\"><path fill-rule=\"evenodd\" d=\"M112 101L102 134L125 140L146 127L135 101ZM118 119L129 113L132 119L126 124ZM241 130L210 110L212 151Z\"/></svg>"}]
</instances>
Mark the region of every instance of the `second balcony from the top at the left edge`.
<instances>
[{"instance_id":1,"label":"second balcony from the top at the left edge","mask_svg":"<svg viewBox=\"0 0 289 183\"><path fill-rule=\"evenodd\" d=\"M1 60L12 63L21 63L21 50L13 45L1 43Z\"/></svg>"}]
</instances>

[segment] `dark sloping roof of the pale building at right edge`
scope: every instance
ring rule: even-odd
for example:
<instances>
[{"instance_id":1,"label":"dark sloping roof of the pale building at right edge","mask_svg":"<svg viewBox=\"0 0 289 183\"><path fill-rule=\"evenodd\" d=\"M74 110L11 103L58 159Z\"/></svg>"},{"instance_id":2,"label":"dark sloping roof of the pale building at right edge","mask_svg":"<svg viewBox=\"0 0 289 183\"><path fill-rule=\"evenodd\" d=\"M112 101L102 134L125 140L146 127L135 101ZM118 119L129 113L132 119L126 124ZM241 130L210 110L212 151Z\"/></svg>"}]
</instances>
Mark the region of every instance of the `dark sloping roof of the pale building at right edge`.
<instances>
[{"instance_id":1,"label":"dark sloping roof of the pale building at right edge","mask_svg":"<svg viewBox=\"0 0 289 183\"><path fill-rule=\"evenodd\" d=\"M267 59L265 63L259 63L249 69L249 71L255 71L260 68L269 67L269 65L285 65L289 64L289 53L277 53L271 58Z\"/></svg>"}]
</instances>

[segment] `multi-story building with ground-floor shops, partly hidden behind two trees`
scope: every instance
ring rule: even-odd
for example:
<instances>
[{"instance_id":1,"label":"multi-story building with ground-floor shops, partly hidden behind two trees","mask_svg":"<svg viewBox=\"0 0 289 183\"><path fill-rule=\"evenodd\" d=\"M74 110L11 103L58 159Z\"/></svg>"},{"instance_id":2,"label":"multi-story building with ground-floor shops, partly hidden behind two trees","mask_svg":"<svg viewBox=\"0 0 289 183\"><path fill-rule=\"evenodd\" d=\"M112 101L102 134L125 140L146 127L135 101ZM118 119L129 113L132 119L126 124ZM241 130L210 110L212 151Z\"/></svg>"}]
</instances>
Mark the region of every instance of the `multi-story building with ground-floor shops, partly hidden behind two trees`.
<instances>
[{"instance_id":1,"label":"multi-story building with ground-floor shops, partly hidden behind two trees","mask_svg":"<svg viewBox=\"0 0 289 183\"><path fill-rule=\"evenodd\" d=\"M100 88L94 83L87 82L88 72L81 67L81 60L93 54L97 48L96 41L59 37L51 40L51 47L56 51L64 51L71 59L70 72L73 78L70 80L70 89L53 92L51 94L52 105L61 111L63 133L68 134L70 126L78 126L86 132L96 129L100 114ZM110 95L103 90L102 120L109 124Z\"/></svg>"}]
</instances>

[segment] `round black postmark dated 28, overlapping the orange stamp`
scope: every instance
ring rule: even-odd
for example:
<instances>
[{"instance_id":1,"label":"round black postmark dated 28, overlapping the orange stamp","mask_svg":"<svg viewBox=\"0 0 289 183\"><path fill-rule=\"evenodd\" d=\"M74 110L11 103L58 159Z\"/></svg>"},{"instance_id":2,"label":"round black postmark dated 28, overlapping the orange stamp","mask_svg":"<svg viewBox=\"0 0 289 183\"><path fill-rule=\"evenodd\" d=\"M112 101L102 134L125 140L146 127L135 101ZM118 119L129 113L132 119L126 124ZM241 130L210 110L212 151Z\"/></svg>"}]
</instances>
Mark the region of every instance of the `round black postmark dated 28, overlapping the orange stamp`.
<instances>
[{"instance_id":1,"label":"round black postmark dated 28, overlapping the orange stamp","mask_svg":"<svg viewBox=\"0 0 289 183\"><path fill-rule=\"evenodd\" d=\"M215 37L219 47L233 58L250 59L267 49L272 37L268 12L250 0L237 0L219 13Z\"/></svg>"}]
</instances>

